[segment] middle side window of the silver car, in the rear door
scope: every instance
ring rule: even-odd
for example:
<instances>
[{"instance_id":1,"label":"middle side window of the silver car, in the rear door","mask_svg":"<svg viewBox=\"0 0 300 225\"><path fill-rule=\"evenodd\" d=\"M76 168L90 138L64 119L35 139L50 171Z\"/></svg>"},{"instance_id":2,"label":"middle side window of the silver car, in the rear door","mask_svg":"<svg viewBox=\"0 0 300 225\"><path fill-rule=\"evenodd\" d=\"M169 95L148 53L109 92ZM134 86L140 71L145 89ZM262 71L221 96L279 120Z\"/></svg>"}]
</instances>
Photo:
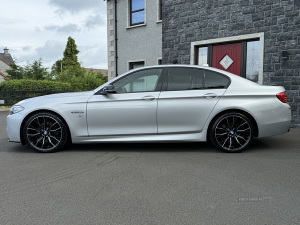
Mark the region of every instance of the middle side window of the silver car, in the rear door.
<instances>
[{"instance_id":1,"label":"middle side window of the silver car, in the rear door","mask_svg":"<svg viewBox=\"0 0 300 225\"><path fill-rule=\"evenodd\" d=\"M196 68L169 68L167 90L201 89L204 70Z\"/></svg>"}]
</instances>

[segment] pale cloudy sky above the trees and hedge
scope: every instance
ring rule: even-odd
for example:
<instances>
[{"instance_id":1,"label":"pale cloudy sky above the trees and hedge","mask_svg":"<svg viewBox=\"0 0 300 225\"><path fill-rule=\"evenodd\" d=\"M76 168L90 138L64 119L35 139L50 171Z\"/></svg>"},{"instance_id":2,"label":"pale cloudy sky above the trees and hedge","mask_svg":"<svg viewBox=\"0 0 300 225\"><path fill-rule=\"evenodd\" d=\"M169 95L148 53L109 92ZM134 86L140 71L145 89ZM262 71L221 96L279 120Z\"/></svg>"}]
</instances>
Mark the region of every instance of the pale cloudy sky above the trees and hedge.
<instances>
[{"instance_id":1,"label":"pale cloudy sky above the trees and hedge","mask_svg":"<svg viewBox=\"0 0 300 225\"><path fill-rule=\"evenodd\" d=\"M106 1L6 0L0 30L0 52L7 47L19 65L42 57L50 68L71 36L84 67L107 69Z\"/></svg>"}]
</instances>

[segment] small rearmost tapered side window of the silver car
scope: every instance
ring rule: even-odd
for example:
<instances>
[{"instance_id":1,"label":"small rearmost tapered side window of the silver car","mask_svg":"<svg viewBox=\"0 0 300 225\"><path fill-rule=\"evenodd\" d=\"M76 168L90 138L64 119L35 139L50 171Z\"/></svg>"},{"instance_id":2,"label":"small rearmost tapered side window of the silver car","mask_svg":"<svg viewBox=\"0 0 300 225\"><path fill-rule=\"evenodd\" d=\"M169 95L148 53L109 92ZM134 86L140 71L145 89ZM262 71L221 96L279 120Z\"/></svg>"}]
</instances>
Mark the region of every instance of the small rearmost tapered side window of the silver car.
<instances>
[{"instance_id":1,"label":"small rearmost tapered side window of the silver car","mask_svg":"<svg viewBox=\"0 0 300 225\"><path fill-rule=\"evenodd\" d=\"M229 79L214 71L205 70L204 88L224 88L228 85Z\"/></svg>"}]
</instances>

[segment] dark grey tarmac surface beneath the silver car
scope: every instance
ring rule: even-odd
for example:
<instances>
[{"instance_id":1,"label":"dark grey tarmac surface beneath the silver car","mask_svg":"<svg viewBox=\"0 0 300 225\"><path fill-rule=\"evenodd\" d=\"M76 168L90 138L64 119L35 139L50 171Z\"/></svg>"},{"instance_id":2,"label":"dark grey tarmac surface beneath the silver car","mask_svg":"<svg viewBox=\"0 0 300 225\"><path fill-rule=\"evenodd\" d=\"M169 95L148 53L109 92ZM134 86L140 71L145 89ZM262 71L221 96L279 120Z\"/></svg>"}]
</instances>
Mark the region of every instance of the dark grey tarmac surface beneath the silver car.
<instances>
[{"instance_id":1,"label":"dark grey tarmac surface beneath the silver car","mask_svg":"<svg viewBox=\"0 0 300 225\"><path fill-rule=\"evenodd\" d=\"M241 153L210 143L8 142L0 111L0 224L299 224L300 129Z\"/></svg>"}]
</instances>

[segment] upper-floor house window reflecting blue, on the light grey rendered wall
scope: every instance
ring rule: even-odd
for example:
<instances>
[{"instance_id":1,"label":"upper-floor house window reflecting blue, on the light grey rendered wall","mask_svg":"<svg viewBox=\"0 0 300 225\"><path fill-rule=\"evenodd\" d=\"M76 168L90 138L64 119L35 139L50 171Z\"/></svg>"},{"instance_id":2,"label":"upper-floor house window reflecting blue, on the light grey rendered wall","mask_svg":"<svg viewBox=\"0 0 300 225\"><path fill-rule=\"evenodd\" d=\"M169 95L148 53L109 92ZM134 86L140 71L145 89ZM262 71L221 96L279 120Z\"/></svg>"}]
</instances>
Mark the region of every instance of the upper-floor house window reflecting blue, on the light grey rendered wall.
<instances>
[{"instance_id":1,"label":"upper-floor house window reflecting blue, on the light grey rendered wall","mask_svg":"<svg viewBox=\"0 0 300 225\"><path fill-rule=\"evenodd\" d=\"M144 0L130 0L130 25L144 23L145 6Z\"/></svg>"}]
</instances>

